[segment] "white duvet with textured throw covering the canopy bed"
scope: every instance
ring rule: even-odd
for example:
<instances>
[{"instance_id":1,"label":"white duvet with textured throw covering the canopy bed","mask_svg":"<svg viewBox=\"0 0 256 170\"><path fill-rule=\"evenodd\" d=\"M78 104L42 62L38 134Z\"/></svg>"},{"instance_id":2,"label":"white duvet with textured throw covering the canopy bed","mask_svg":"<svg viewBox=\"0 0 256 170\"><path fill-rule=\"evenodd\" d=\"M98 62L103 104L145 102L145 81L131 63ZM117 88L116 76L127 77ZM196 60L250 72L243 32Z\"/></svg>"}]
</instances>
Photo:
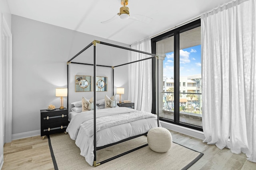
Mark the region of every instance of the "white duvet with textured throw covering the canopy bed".
<instances>
[{"instance_id":1,"label":"white duvet with textured throw covering the canopy bed","mask_svg":"<svg viewBox=\"0 0 256 170\"><path fill-rule=\"evenodd\" d=\"M94 161L93 113L92 110L75 115L66 129L91 166ZM157 127L156 115L127 107L99 109L96 117L97 147L144 134Z\"/></svg>"}]
</instances>

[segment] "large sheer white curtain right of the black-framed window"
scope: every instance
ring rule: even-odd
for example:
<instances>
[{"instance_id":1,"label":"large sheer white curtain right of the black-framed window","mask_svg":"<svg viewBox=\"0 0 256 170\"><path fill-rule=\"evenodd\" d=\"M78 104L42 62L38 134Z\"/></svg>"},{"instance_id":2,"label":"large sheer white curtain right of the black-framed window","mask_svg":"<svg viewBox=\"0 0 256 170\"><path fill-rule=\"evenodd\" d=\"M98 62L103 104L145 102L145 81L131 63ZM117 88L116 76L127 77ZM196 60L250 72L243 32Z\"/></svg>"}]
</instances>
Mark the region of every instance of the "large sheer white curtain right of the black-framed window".
<instances>
[{"instance_id":1,"label":"large sheer white curtain right of the black-framed window","mask_svg":"<svg viewBox=\"0 0 256 170\"><path fill-rule=\"evenodd\" d=\"M254 0L203 14L201 29L204 142L256 162Z\"/></svg>"}]
</instances>

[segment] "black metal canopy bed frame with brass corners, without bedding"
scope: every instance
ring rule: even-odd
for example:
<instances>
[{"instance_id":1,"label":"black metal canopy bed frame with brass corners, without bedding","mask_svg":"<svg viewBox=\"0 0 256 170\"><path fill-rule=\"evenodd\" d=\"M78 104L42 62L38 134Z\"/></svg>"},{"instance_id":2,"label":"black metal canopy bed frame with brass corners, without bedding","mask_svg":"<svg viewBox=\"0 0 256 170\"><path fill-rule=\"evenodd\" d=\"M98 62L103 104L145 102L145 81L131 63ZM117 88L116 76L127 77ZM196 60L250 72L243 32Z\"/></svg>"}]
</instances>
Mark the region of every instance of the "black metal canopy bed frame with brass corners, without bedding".
<instances>
[{"instance_id":1,"label":"black metal canopy bed frame with brass corners, without bedding","mask_svg":"<svg viewBox=\"0 0 256 170\"><path fill-rule=\"evenodd\" d=\"M108 46L112 46L112 47L117 47L117 48L120 48L120 49L126 49L126 50L129 50L129 51L134 51L134 52L138 52L138 53L143 53L143 54L146 54L146 55L151 55L151 56L153 56L153 57L148 57L148 58L145 58L145 59L140 59L140 60L137 60L137 61L132 61L132 62L129 62L129 63L125 63L125 64L120 64L120 65L117 65L117 66L105 66L105 65L98 65L98 64L96 64L96 44L97 43L100 43L100 44L103 44L103 45L108 45ZM76 63L76 62L71 62L74 58L76 58L78 55L80 55L82 52L84 52L86 49L88 49L90 46L92 46L92 45L94 45L94 55L93 55L93 57L94 57L94 64L86 64L86 63ZM124 66L124 65L126 65L126 64L132 64L132 63L136 63L136 62L140 62L140 61L144 61L144 60L148 60L148 59L153 59L153 58L155 58L156 60L157 60L157 69L155 70L156 71L156 75L157 75L157 89L158 89L158 55L155 55L155 54L152 54L152 53L146 53L146 52L144 52L144 51L139 51L139 50L135 50L135 49L130 49L130 48L127 48L127 47L122 47L122 46L119 46L119 45L114 45L114 44L110 44L110 43L104 43L104 42L102 42L102 41L96 41L96 40L94 40L94 41L92 41L92 43L90 43L89 45L87 45L86 47L84 47L84 49L82 49L79 53L77 53L74 57L72 57L72 59L70 59L68 62L67 62L67 88L68 88L68 83L69 83L69 79L68 79L68 65L70 64L70 63L73 63L73 64L84 64L84 65L91 65L91 66L94 66L93 67L93 76L94 76L94 78L93 78L93 83L94 83L94 86L96 86L96 67L97 66L104 66L104 67L111 67L112 69L113 69L113 72L112 72L112 76L113 76L113 84L112 84L112 90L113 90L113 96L114 96L114 68L115 67L118 67L118 66ZM152 66L152 68L154 68L153 66ZM152 70L153 71L153 70ZM96 89L95 87L94 87L94 89ZM94 92L93 92L93 96L94 96L94 108L96 108L96 90L94 90ZM158 94L158 91L157 91L157 111L156 111L156 113L155 114L157 114L157 125L158 125L158 127L159 127L159 114L158 114L158 111L159 111L159 94ZM67 96L67 107L68 107L68 96ZM124 139L124 140L122 140L122 141L118 141L118 142L116 142L116 143L112 143L112 144L109 144L109 145L105 145L105 146L102 146L102 147L96 147L96 109L94 109L94 167L95 166L98 166L98 165L100 165L100 164L103 164L103 163L105 163L105 162L108 162L108 161L110 161L110 160L113 160L113 159L115 159L115 158L118 158L118 157L120 157L120 156L123 156L123 155L125 155L125 154L128 154L128 153L130 153L130 152L133 152L133 151L135 151L135 150L138 150L138 149L140 149L140 148L143 148L143 147L146 147L148 144L145 144L145 145L142 145L142 146L140 146L140 147L137 147L137 148L135 148L135 149L132 149L132 150L129 150L129 151L127 151L127 152L124 152L124 153L122 153L122 154L119 154L119 155L117 155L117 156L114 156L114 157L112 157L112 158L108 158L108 159L106 159L106 160L103 160L102 162L99 162L99 163L96 163L96 150L100 150L100 149L104 149L104 148L106 148L106 147L110 147L110 146L112 146L112 145L116 145L116 144L118 144L118 143L122 143L122 142L124 142L124 141L128 141L128 140L130 140L130 139L134 139L134 138L136 138L136 137L140 137L140 136L143 136L143 135L147 135L147 133L144 133L144 134L141 134L141 135L136 135L136 136L134 136L134 137L129 137L129 138L127 138L127 139Z\"/></svg>"}]
</instances>

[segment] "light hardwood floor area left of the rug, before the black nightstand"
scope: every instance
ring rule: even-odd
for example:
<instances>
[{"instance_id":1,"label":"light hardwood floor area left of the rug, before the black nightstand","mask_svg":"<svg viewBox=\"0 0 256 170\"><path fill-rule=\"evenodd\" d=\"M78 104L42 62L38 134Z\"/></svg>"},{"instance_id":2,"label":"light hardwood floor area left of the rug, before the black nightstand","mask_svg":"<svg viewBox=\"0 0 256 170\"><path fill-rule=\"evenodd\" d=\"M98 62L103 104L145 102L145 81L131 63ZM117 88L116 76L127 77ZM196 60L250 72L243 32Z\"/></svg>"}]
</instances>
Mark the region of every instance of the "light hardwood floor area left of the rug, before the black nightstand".
<instances>
[{"instance_id":1,"label":"light hardwood floor area left of the rug, before the black nightstand","mask_svg":"<svg viewBox=\"0 0 256 170\"><path fill-rule=\"evenodd\" d=\"M4 145L2 170L54 170L47 137L28 137Z\"/></svg>"}]
</instances>

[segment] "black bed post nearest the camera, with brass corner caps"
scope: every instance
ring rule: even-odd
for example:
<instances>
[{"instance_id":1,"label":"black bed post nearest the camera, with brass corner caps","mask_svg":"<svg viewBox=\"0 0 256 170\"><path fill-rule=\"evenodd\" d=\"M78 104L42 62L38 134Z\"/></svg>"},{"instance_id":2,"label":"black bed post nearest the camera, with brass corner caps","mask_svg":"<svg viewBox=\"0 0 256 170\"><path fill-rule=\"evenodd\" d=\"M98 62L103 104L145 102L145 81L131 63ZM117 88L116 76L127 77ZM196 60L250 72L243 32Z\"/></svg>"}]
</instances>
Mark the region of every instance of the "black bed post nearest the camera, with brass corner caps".
<instances>
[{"instance_id":1,"label":"black bed post nearest the camera, with brass corner caps","mask_svg":"<svg viewBox=\"0 0 256 170\"><path fill-rule=\"evenodd\" d=\"M93 166L98 166L100 163L96 163L97 157L96 157L96 43L99 43L99 41L94 40L93 42L93 84L94 84L94 90L93 90L93 102L94 102L94 109L93 109L93 130L94 130L94 163Z\"/></svg>"}]
</instances>

